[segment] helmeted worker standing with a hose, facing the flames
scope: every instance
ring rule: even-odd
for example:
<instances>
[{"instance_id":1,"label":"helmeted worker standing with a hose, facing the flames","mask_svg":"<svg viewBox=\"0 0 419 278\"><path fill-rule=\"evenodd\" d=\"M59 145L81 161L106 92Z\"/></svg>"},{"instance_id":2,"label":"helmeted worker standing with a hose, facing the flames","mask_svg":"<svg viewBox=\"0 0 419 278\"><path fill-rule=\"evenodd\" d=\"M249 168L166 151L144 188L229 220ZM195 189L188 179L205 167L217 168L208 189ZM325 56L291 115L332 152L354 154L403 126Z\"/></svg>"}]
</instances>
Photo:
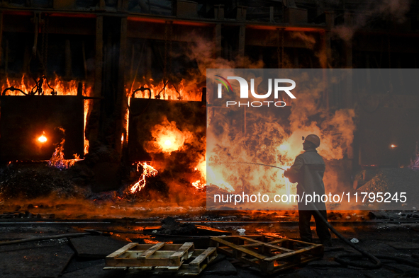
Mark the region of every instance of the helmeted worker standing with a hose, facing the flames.
<instances>
[{"instance_id":1,"label":"helmeted worker standing with a hose, facing the flames","mask_svg":"<svg viewBox=\"0 0 419 278\"><path fill-rule=\"evenodd\" d=\"M303 137L304 139L304 137ZM304 139L303 154L296 157L294 165L284 172L284 176L289 178L291 183L297 184L297 195L300 197L298 202L298 217L300 237L302 241L311 243L313 241L311 235L310 221L314 216L315 230L320 242L325 246L331 246L330 232L328 226L320 219L320 213L324 219L328 219L326 214L326 206L321 202L321 198L315 199L306 204L306 199L301 199L303 195L319 195L325 194L325 185L323 183L323 175L325 173L325 162L318 154L316 148L320 146L320 138L315 134L310 134ZM315 200L314 200L315 199ZM318 212L315 212L318 211Z\"/></svg>"}]
</instances>

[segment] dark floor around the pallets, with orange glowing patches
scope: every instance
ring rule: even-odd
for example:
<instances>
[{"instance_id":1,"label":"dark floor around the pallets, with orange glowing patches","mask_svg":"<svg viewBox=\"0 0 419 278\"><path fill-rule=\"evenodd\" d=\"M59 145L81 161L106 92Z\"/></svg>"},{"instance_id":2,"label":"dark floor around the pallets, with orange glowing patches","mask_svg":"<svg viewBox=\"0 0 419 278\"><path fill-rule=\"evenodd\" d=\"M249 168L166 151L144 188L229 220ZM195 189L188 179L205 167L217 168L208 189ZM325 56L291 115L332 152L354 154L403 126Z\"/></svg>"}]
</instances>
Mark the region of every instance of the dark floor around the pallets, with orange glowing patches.
<instances>
[{"instance_id":1,"label":"dark floor around the pallets, with orange glowing patches","mask_svg":"<svg viewBox=\"0 0 419 278\"><path fill-rule=\"evenodd\" d=\"M400 215L400 214L393 214ZM185 218L185 217L184 217ZM103 270L104 257L118 250L130 241L151 243L169 241L182 243L194 241L196 248L208 244L208 236L155 236L144 234L144 228L150 221L130 219L114 220L79 220L79 221L28 221L27 219L6 219L0 222L0 241L11 241L33 236L50 236L65 233L80 233L86 228L107 231L106 236L89 235L77 238L58 238L43 241L31 241L12 245L0 245L0 276L2 278L21 277L164 277L138 271ZM147 219L150 220L150 219ZM154 219L158 222L161 219ZM246 222L218 221L208 226L220 228L238 234L238 228L245 228L245 233L271 233L286 238L298 238L296 221L255 221ZM252 223L254 221L255 223ZM216 222L216 221L213 221ZM381 219L362 223L332 221L346 238L359 239L359 247L378 255L395 255L419 263L419 219ZM315 228L313 227L313 230ZM110 235L111 234L111 235ZM315 232L313 231L313 235ZM271 277L419 277L419 268L398 262L383 260L379 270L361 270L356 267L344 267L335 262L334 257L354 252L352 248L333 238L333 248L326 248L321 260L308 262ZM254 268L237 260L219 255L203 270L200 277L263 277Z\"/></svg>"}]
</instances>

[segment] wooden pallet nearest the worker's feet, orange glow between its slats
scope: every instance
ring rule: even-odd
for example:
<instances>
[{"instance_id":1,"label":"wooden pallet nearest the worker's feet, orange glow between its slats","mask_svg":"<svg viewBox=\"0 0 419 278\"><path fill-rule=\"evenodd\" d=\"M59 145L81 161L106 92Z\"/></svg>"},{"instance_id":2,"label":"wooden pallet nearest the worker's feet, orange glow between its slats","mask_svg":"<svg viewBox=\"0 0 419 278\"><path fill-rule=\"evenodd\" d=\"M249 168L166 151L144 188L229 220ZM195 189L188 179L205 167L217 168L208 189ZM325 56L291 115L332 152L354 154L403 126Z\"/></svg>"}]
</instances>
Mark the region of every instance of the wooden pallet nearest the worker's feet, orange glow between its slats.
<instances>
[{"instance_id":1,"label":"wooden pallet nearest the worker's feet, orange glow between its slats","mask_svg":"<svg viewBox=\"0 0 419 278\"><path fill-rule=\"evenodd\" d=\"M218 252L272 274L323 257L323 245L273 236L211 238Z\"/></svg>"}]
</instances>

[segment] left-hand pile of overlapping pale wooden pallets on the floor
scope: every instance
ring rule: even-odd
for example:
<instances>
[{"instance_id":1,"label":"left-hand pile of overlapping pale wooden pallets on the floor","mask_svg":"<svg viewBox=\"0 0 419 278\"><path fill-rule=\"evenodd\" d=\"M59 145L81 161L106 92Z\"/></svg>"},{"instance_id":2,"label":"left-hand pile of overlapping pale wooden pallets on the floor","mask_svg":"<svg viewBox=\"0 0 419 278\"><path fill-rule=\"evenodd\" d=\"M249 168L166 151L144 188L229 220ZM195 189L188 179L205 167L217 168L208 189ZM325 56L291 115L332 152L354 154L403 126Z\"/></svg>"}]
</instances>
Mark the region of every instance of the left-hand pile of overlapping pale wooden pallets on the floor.
<instances>
[{"instance_id":1,"label":"left-hand pile of overlapping pale wooden pallets on the floor","mask_svg":"<svg viewBox=\"0 0 419 278\"><path fill-rule=\"evenodd\" d=\"M194 243L129 243L105 259L104 270L142 270L155 274L197 275L217 257L216 248L194 249Z\"/></svg>"}]
</instances>

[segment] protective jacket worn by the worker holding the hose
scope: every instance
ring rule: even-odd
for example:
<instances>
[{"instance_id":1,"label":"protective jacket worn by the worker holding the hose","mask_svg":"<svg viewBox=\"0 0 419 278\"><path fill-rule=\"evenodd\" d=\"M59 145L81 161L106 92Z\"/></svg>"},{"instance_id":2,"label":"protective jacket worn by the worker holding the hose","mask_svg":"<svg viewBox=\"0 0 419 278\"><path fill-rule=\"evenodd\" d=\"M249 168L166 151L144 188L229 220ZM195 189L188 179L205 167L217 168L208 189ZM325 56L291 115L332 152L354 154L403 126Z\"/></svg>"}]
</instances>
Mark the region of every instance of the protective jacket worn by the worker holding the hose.
<instances>
[{"instance_id":1,"label":"protective jacket worn by the worker holding the hose","mask_svg":"<svg viewBox=\"0 0 419 278\"><path fill-rule=\"evenodd\" d=\"M294 165L289 170L295 173L294 179L298 183L297 194L300 197L298 209L312 210L314 209L313 204L318 210L326 209L325 203L321 202L321 196L325 194L323 183L325 168L325 161L315 150L305 151L296 157ZM294 180L291 181L295 182ZM311 195L313 199L307 197L307 195ZM311 202L306 204L306 200L311 200Z\"/></svg>"}]
</instances>

